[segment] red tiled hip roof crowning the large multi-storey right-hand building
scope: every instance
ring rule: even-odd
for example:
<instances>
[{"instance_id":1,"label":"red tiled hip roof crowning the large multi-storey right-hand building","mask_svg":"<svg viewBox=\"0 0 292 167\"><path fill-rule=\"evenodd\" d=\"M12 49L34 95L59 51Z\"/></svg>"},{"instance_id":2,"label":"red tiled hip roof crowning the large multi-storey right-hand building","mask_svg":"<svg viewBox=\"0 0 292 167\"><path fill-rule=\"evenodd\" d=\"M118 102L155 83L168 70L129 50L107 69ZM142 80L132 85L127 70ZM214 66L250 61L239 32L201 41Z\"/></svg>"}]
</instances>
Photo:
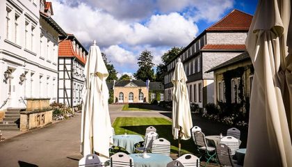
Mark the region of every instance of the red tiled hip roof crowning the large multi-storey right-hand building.
<instances>
[{"instance_id":1,"label":"red tiled hip roof crowning the large multi-storey right-hand building","mask_svg":"<svg viewBox=\"0 0 292 167\"><path fill-rule=\"evenodd\" d=\"M252 15L234 9L206 31L248 31L251 23Z\"/></svg>"}]
</instances>

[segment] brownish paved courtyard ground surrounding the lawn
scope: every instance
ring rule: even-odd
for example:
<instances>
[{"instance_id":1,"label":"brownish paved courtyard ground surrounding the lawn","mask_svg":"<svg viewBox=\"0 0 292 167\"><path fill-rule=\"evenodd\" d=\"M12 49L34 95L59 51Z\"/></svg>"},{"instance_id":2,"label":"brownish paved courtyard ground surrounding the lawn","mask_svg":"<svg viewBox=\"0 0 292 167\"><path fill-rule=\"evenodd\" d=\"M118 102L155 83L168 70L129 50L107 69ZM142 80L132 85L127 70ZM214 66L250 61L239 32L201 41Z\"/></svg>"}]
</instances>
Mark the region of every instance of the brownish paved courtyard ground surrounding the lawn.
<instances>
[{"instance_id":1,"label":"brownish paved courtyard ground surrounding the lawn","mask_svg":"<svg viewBox=\"0 0 292 167\"><path fill-rule=\"evenodd\" d=\"M119 116L171 118L168 111L122 111L122 105L110 105L109 108L112 122ZM228 128L216 122L206 122L196 116L193 116L193 124L202 127L206 135L225 132ZM8 139L0 142L0 167L78 166L81 159L80 129L81 113L76 113L76 116L69 120L30 132L2 132Z\"/></svg>"}]
</instances>

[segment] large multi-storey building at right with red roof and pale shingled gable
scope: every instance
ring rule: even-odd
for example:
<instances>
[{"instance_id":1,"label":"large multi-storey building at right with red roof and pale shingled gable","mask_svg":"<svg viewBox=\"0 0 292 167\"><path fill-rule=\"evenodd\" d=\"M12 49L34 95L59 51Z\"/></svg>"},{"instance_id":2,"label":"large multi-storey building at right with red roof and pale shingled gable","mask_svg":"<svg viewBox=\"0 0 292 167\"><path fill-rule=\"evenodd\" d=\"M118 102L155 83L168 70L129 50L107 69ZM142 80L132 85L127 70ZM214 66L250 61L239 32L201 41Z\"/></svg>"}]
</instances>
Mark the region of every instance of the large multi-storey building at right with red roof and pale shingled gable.
<instances>
[{"instance_id":1,"label":"large multi-storey building at right with red roof and pale shingled gable","mask_svg":"<svg viewBox=\"0 0 292 167\"><path fill-rule=\"evenodd\" d=\"M188 78L186 85L190 102L201 108L213 103L213 72L205 72L245 51L245 38L251 22L252 15L233 10L190 42L168 64L168 72L164 76L165 100L172 100L171 79L178 58L181 58Z\"/></svg>"}]
</instances>

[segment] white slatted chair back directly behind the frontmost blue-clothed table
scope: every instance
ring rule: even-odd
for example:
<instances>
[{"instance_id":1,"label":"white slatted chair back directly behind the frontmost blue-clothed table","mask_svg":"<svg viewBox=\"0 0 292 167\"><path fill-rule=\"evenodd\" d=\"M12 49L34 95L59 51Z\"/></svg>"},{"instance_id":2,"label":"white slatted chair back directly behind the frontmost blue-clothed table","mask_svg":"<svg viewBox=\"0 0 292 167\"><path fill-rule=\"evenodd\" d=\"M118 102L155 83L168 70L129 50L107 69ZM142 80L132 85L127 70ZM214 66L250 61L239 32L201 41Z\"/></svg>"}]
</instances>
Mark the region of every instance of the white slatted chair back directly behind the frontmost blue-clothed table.
<instances>
[{"instance_id":1,"label":"white slatted chair back directly behind the frontmost blue-clothed table","mask_svg":"<svg viewBox=\"0 0 292 167\"><path fill-rule=\"evenodd\" d=\"M152 153L170 156L170 142L165 138L157 138L152 143Z\"/></svg>"}]
</instances>

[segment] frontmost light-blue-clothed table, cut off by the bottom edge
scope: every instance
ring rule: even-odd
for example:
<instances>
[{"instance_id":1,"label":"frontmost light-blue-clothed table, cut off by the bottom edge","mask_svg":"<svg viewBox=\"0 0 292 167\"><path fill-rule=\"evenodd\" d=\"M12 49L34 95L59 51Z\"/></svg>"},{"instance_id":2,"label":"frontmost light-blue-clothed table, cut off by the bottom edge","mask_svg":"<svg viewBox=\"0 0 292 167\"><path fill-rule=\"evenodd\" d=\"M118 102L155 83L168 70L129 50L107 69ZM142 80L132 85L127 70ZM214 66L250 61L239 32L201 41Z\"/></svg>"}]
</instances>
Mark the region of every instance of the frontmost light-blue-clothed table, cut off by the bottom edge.
<instances>
[{"instance_id":1,"label":"frontmost light-blue-clothed table, cut off by the bottom edge","mask_svg":"<svg viewBox=\"0 0 292 167\"><path fill-rule=\"evenodd\" d=\"M134 167L166 167L172 161L170 157L165 154L147 153L148 158L144 158L143 154L129 154L133 159Z\"/></svg>"}]
</instances>

